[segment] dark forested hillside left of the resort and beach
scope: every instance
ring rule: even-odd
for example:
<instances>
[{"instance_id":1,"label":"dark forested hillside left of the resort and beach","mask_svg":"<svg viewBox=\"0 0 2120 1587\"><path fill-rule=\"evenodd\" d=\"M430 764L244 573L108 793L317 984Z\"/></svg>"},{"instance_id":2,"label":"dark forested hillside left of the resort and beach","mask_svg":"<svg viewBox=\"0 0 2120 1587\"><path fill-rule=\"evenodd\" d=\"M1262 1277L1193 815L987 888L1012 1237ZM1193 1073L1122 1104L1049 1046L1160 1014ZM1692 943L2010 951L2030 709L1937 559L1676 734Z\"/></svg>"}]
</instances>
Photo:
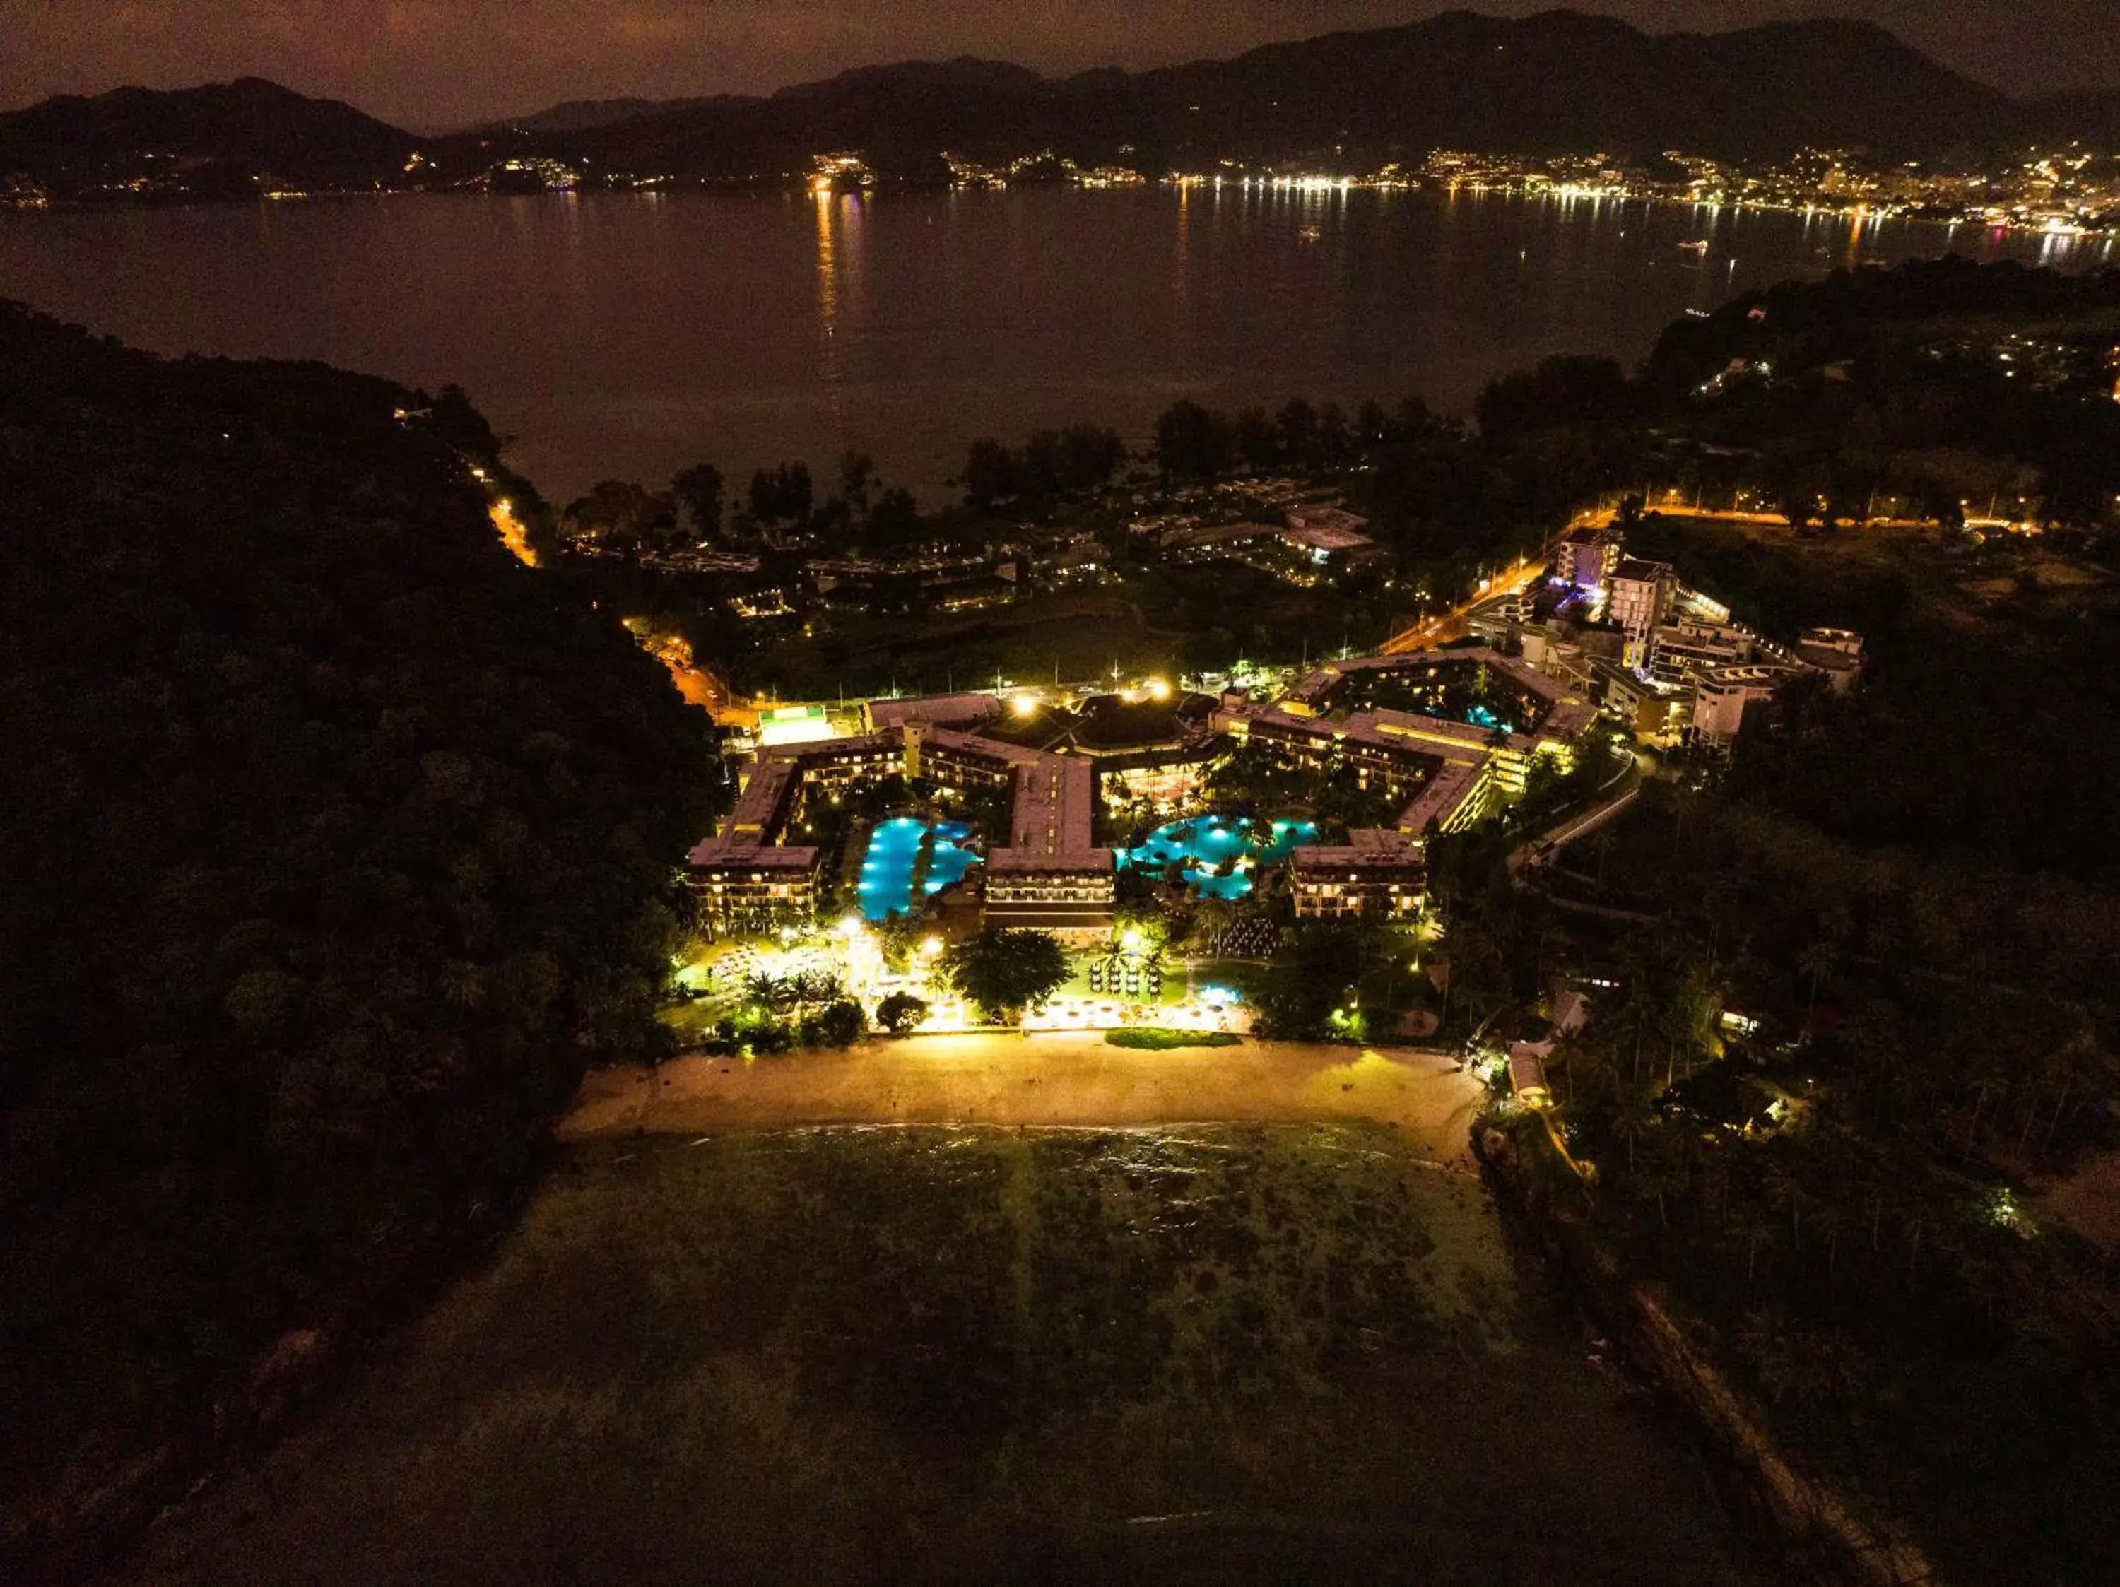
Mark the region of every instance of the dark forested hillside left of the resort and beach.
<instances>
[{"instance_id":1,"label":"dark forested hillside left of the resort and beach","mask_svg":"<svg viewBox=\"0 0 2120 1587\"><path fill-rule=\"evenodd\" d=\"M151 1515L657 1051L704 718L500 545L492 449L460 394L0 305L4 1579Z\"/></svg>"}]
</instances>

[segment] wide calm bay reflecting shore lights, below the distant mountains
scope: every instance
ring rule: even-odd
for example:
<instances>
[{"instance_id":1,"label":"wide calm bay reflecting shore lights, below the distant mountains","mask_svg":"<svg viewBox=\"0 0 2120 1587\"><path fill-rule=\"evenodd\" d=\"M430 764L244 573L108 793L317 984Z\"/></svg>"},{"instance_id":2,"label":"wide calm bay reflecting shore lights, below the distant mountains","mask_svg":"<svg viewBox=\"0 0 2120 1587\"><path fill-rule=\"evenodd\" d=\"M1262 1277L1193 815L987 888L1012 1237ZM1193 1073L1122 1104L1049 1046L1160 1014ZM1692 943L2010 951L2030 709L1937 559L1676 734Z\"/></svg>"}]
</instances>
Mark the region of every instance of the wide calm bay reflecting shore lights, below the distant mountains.
<instances>
[{"instance_id":1,"label":"wide calm bay reflecting shore lights, below the distant mountains","mask_svg":"<svg viewBox=\"0 0 2120 1587\"><path fill-rule=\"evenodd\" d=\"M1679 244L1707 239L1694 254ZM558 502L850 447L941 500L965 443L1179 396L1465 411L1552 352L1859 261L2088 267L2112 239L1444 191L312 199L0 214L0 295L159 352L464 386Z\"/></svg>"}]
</instances>

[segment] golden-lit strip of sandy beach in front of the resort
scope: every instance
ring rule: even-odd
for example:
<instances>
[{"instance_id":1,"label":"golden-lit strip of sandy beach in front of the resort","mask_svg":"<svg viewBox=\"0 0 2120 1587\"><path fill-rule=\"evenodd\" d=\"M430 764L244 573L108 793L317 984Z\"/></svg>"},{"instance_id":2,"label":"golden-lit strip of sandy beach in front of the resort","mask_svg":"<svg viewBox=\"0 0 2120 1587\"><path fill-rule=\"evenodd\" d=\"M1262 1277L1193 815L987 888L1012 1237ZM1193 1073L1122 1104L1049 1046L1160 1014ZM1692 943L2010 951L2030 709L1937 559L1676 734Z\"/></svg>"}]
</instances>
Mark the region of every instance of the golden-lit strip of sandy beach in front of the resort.
<instances>
[{"instance_id":1,"label":"golden-lit strip of sandy beach in front of the resort","mask_svg":"<svg viewBox=\"0 0 2120 1587\"><path fill-rule=\"evenodd\" d=\"M1242 1042L1141 1053L1100 1034L912 1036L848 1053L598 1070L562 1138L825 1123L1147 1125L1376 1119L1467 1163L1482 1087L1442 1053Z\"/></svg>"}]
</instances>

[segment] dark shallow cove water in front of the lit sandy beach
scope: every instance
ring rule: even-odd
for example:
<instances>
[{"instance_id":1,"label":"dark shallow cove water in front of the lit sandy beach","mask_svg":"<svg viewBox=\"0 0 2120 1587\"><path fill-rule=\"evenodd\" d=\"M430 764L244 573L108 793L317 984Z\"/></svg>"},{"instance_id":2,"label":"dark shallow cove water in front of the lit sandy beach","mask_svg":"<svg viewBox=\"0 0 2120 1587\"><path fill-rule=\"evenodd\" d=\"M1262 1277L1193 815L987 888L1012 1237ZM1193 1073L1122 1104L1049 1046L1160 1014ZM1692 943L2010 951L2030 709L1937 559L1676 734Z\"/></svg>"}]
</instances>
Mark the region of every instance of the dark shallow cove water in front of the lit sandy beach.
<instances>
[{"instance_id":1,"label":"dark shallow cove water in front of the lit sandy beach","mask_svg":"<svg viewBox=\"0 0 2120 1587\"><path fill-rule=\"evenodd\" d=\"M583 1146L129 1574L1172 1576L1749 1579L1478 1180L1367 1127Z\"/></svg>"}]
</instances>

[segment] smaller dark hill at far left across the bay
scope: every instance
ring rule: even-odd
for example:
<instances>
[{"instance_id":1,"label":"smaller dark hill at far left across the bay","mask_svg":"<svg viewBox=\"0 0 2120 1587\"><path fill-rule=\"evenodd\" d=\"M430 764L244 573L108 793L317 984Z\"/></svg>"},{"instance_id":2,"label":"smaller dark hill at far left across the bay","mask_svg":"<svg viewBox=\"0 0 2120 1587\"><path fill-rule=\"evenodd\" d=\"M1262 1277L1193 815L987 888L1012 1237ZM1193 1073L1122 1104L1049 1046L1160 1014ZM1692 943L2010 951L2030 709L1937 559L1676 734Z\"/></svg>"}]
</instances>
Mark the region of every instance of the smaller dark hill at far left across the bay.
<instances>
[{"instance_id":1,"label":"smaller dark hill at far left across the bay","mask_svg":"<svg viewBox=\"0 0 2120 1587\"><path fill-rule=\"evenodd\" d=\"M0 174L23 172L61 195L373 186L403 180L418 146L409 131L350 104L310 100L257 76L174 93L59 95L0 114Z\"/></svg>"}]
</instances>

